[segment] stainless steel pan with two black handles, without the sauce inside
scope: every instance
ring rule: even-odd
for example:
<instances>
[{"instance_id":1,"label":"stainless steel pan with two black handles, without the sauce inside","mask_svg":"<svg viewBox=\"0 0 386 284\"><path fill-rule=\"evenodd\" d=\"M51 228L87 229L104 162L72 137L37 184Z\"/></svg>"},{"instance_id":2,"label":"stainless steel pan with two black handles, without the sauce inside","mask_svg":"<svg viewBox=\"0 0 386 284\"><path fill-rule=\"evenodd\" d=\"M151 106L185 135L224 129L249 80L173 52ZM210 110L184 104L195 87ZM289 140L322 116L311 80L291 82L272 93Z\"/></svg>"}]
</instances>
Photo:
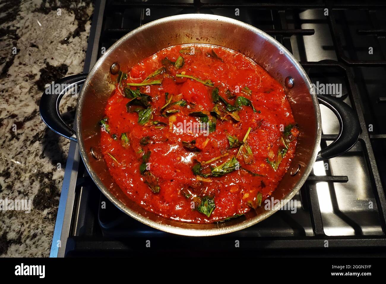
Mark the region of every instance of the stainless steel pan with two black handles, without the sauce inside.
<instances>
[{"instance_id":1,"label":"stainless steel pan with two black handles, without the sauce inside","mask_svg":"<svg viewBox=\"0 0 386 284\"><path fill-rule=\"evenodd\" d=\"M100 152L98 121L114 88L119 66L133 66L160 49L188 43L206 43L234 49L265 68L286 90L300 136L296 154L274 199L289 201L310 174L315 160L323 160L348 151L360 133L359 121L347 104L331 96L315 95L310 79L298 61L271 36L234 19L205 14L167 17L141 26L122 37L97 61L90 73L63 78L56 84L84 82L76 109L75 129L61 119L58 106L60 94L45 92L40 102L43 121L56 133L78 141L83 162L98 188L115 206L132 218L151 227L170 233L190 236L211 236L230 233L252 226L277 211L259 207L245 216L218 224L186 224L164 219L131 201L115 184ZM340 122L338 139L318 153L321 120L319 103L325 104Z\"/></svg>"}]
</instances>

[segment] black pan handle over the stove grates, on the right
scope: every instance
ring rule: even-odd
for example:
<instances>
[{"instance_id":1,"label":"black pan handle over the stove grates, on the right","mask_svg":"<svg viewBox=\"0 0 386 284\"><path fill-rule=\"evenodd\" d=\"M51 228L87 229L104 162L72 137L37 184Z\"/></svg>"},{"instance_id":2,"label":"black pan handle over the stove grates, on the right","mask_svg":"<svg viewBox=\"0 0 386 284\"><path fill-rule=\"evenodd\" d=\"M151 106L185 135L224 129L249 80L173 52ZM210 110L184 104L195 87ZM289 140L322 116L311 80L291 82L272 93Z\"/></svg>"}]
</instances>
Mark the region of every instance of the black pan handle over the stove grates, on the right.
<instances>
[{"instance_id":1,"label":"black pan handle over the stove grates, on the right","mask_svg":"<svg viewBox=\"0 0 386 284\"><path fill-rule=\"evenodd\" d=\"M332 110L339 121L338 138L317 155L316 160L322 161L349 151L358 141L359 134L361 134L361 125L354 110L345 102L327 95L318 95L318 100L320 104Z\"/></svg>"}]
</instances>

